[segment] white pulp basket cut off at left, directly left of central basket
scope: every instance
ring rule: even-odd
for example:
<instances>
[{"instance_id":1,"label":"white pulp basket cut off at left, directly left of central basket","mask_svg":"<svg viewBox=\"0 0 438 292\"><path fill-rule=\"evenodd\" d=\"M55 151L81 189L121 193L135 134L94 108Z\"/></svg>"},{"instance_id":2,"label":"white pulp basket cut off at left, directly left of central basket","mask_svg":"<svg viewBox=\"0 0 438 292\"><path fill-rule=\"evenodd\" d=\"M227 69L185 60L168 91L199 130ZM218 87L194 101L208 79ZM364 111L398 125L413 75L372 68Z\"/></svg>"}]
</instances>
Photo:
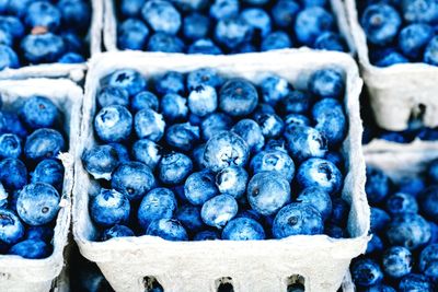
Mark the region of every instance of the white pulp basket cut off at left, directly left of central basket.
<instances>
[{"instance_id":1,"label":"white pulp basket cut off at left, directly left of central basket","mask_svg":"<svg viewBox=\"0 0 438 292\"><path fill-rule=\"evenodd\" d=\"M71 220L71 192L73 188L73 163L79 137L82 90L67 79L28 79L0 81L0 95L7 109L18 109L33 96L45 96L53 101L64 114L64 131L68 136L69 151L59 154L65 167L60 210L56 219L53 238L54 252L44 259L25 259L19 256L0 255L0 291L50 291L55 278L65 266L65 247Z\"/></svg>"}]
</instances>

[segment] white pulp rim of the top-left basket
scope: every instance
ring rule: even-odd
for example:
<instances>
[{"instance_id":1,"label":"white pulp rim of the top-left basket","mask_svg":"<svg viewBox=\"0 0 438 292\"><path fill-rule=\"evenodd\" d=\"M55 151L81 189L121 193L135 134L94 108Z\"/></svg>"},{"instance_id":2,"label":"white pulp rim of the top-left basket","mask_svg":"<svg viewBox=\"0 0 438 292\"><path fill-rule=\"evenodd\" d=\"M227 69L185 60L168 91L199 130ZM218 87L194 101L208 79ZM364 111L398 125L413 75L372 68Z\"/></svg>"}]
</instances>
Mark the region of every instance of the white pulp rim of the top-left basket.
<instances>
[{"instance_id":1,"label":"white pulp rim of the top-left basket","mask_svg":"<svg viewBox=\"0 0 438 292\"><path fill-rule=\"evenodd\" d=\"M92 17L88 38L90 40L90 55L102 51L102 28L103 28L103 1L91 0ZM87 62L82 63L43 63L24 66L18 69L7 68L0 71L0 80L28 79L28 78L68 78L74 82L84 79Z\"/></svg>"}]
</instances>

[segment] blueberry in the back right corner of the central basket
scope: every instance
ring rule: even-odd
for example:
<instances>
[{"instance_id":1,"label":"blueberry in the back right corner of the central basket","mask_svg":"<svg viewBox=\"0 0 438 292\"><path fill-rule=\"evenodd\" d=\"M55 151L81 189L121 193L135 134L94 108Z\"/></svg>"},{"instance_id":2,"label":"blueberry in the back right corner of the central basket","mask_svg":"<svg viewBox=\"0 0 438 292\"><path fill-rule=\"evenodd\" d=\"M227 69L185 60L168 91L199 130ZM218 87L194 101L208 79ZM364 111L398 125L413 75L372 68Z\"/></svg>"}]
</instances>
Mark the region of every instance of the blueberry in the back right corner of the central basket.
<instances>
[{"instance_id":1,"label":"blueberry in the back right corner of the central basket","mask_svg":"<svg viewBox=\"0 0 438 292\"><path fill-rule=\"evenodd\" d=\"M319 98L341 100L345 89L343 72L338 68L316 70L309 78L308 89Z\"/></svg>"}]
</instances>

